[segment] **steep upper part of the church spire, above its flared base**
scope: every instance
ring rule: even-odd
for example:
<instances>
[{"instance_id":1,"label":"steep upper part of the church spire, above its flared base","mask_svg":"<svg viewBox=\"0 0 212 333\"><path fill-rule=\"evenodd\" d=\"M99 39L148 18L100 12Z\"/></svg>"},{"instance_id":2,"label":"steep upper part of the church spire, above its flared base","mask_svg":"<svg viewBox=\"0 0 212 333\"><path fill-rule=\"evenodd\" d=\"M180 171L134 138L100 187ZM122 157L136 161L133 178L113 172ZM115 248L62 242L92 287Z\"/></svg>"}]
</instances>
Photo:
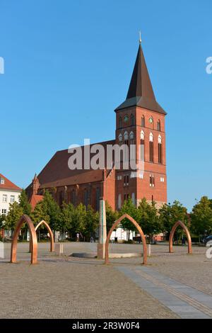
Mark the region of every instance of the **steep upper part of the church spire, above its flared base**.
<instances>
[{"instance_id":1,"label":"steep upper part of the church spire, above its flared base","mask_svg":"<svg viewBox=\"0 0 212 333\"><path fill-rule=\"evenodd\" d=\"M131 76L126 99L133 97L147 97L155 101L153 86L151 84L151 79L149 77L148 69L146 67L146 62L143 56L141 39L139 41L139 51L136 57L134 72Z\"/></svg>"}]
</instances>

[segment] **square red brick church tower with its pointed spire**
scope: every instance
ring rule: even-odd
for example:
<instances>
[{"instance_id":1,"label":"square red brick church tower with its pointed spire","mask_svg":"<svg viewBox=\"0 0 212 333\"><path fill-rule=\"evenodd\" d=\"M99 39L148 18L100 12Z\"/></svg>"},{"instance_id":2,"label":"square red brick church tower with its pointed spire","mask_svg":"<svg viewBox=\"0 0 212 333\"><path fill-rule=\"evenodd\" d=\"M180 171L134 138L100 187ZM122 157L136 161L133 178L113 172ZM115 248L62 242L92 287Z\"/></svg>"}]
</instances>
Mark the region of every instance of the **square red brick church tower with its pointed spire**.
<instances>
[{"instance_id":1,"label":"square red brick church tower with its pointed spire","mask_svg":"<svg viewBox=\"0 0 212 333\"><path fill-rule=\"evenodd\" d=\"M131 158L137 170L116 170L116 208L131 198L139 205L142 198L155 201L160 207L167 202L165 162L165 115L155 99L146 61L139 43L139 50L131 76L126 100L116 113L116 143L135 145ZM130 150L131 148L129 148ZM140 166L142 166L140 168Z\"/></svg>"}]
</instances>

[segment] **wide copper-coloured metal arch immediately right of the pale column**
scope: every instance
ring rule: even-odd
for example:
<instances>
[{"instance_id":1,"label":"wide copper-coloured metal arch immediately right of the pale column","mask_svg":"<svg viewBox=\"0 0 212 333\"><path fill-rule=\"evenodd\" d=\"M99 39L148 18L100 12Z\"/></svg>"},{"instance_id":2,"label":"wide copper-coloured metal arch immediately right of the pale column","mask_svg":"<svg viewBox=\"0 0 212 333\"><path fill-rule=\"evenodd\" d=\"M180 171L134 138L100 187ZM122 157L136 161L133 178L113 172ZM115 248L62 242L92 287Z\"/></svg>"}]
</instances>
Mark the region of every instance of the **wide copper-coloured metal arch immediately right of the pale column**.
<instances>
[{"instance_id":1,"label":"wide copper-coloured metal arch immediately right of the pale column","mask_svg":"<svg viewBox=\"0 0 212 333\"><path fill-rule=\"evenodd\" d=\"M134 218L131 218L131 216L128 214L122 215L121 218L119 218L116 222L114 222L114 225L112 225L110 232L107 235L107 239L106 239L106 243L105 243L105 264L109 264L108 249L109 249L109 242L110 242L110 237L112 235L112 232L117 227L117 225L119 225L119 223L122 222L122 220L124 220L124 218L127 218L129 221L131 221L134 224L134 226L136 227L136 229L138 230L139 234L141 235L142 244L143 244L143 265L146 265L146 263L147 263L146 238L143 234L143 231L142 231L140 225L136 222L136 220L134 220Z\"/></svg>"}]
</instances>

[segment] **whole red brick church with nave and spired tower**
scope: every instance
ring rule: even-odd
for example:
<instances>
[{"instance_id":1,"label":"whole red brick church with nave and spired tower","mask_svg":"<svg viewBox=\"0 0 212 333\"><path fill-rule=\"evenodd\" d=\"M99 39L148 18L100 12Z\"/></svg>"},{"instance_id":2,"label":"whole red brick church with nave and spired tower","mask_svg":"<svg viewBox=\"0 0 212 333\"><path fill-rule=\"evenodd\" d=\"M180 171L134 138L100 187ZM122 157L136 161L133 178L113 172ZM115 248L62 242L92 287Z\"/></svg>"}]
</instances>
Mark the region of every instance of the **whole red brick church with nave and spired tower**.
<instances>
[{"instance_id":1,"label":"whole red brick church with nave and spired tower","mask_svg":"<svg viewBox=\"0 0 212 333\"><path fill-rule=\"evenodd\" d=\"M95 210L99 208L100 197L117 210L127 198L131 198L136 205L139 205L141 198L155 201L157 205L167 202L166 113L155 99L141 43L126 100L114 112L115 139L99 143L104 147L122 143L136 145L135 159L142 159L144 172L135 173L130 167L117 169L114 164L110 168L105 164L104 170L71 170L68 149L61 150L54 154L27 188L33 207L42 200L46 189L59 205L63 202L73 205L83 203L92 205Z\"/></svg>"}]
</instances>

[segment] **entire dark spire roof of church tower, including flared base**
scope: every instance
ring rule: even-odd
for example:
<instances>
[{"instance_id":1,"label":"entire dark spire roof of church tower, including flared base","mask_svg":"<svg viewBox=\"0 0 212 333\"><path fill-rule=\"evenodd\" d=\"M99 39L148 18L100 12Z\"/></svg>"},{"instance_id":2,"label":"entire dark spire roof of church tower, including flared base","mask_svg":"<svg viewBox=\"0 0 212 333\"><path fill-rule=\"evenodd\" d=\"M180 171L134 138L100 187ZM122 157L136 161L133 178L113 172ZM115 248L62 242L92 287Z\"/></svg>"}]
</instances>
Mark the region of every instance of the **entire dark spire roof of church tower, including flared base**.
<instances>
[{"instance_id":1,"label":"entire dark spire roof of church tower, including flared base","mask_svg":"<svg viewBox=\"0 0 212 333\"><path fill-rule=\"evenodd\" d=\"M129 108L131 106L141 106L142 108L147 108L151 111L166 114L163 108L161 108L155 100L155 94L146 67L141 43L139 44L134 72L131 76L126 101L124 101L124 103L122 103L115 111Z\"/></svg>"}]
</instances>

